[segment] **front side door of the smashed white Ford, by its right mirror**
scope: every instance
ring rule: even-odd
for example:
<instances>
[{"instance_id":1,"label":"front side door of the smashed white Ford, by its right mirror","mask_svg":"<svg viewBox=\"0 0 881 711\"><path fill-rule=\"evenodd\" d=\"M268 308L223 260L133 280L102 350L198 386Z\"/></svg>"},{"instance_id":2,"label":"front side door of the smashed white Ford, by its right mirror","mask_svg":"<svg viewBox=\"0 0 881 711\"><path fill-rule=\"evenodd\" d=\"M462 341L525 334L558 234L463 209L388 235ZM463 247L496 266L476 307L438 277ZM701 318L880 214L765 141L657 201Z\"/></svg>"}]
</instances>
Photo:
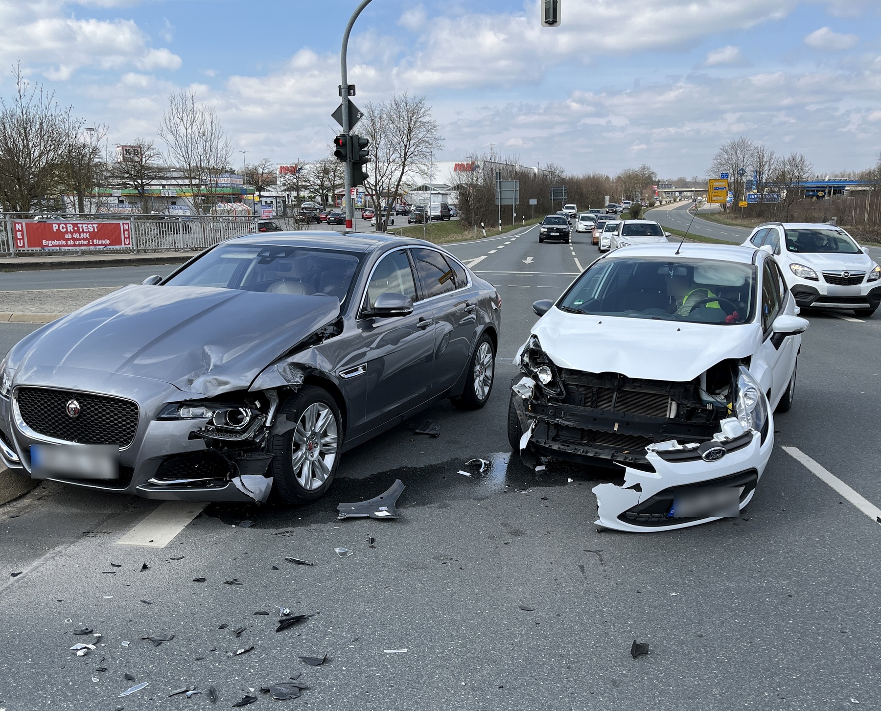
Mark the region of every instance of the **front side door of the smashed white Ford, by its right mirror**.
<instances>
[{"instance_id":1,"label":"front side door of the smashed white Ford, by its right mirror","mask_svg":"<svg viewBox=\"0 0 881 711\"><path fill-rule=\"evenodd\" d=\"M759 295L762 344L753 358L750 371L759 380L774 408L792 374L794 337L775 337L772 330L774 319L783 310L786 286L780 270L771 259L766 259L762 265Z\"/></svg>"}]
</instances>

